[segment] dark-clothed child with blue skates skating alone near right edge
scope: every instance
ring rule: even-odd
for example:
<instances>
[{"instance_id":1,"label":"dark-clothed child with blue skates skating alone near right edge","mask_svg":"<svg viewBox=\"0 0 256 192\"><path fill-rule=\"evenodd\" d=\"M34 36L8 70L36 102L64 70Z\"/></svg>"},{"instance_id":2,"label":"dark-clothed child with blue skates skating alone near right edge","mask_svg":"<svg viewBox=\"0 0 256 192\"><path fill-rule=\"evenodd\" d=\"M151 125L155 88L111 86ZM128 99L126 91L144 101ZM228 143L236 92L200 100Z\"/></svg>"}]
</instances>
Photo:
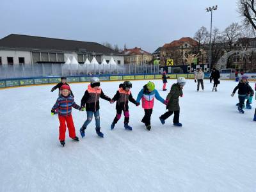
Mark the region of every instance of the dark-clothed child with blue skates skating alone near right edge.
<instances>
[{"instance_id":1,"label":"dark-clothed child with blue skates skating alone near right edge","mask_svg":"<svg viewBox=\"0 0 256 192\"><path fill-rule=\"evenodd\" d=\"M247 76L242 76L241 80L237 84L237 86L234 88L233 93L231 94L232 97L234 97L236 90L238 89L238 99L239 99L239 104L238 104L238 111L239 113L244 113L243 106L244 106L244 100L248 95L250 95L250 88L249 88L249 83L247 81Z\"/></svg>"}]
</instances>

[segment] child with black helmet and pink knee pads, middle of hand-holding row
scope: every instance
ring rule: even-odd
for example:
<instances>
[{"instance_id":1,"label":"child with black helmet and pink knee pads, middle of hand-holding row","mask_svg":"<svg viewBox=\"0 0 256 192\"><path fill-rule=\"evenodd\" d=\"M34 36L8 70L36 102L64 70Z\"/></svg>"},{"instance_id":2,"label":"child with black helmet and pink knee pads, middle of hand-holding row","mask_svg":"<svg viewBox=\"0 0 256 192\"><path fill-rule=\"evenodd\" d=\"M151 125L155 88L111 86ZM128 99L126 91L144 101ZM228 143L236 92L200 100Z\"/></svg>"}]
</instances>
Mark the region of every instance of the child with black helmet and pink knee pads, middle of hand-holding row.
<instances>
[{"instance_id":1,"label":"child with black helmet and pink knee pads, middle of hand-holding row","mask_svg":"<svg viewBox=\"0 0 256 192\"><path fill-rule=\"evenodd\" d=\"M132 83L130 81L124 81L124 83L119 85L119 90L116 92L113 99L111 99L111 103L116 101L116 116L111 124L111 129L114 129L115 124L121 118L122 111L124 111L124 128L132 131L132 127L128 125L130 118L128 102L131 101L136 105L136 100L132 97L131 88ZM138 104L136 106L138 106Z\"/></svg>"}]
</instances>

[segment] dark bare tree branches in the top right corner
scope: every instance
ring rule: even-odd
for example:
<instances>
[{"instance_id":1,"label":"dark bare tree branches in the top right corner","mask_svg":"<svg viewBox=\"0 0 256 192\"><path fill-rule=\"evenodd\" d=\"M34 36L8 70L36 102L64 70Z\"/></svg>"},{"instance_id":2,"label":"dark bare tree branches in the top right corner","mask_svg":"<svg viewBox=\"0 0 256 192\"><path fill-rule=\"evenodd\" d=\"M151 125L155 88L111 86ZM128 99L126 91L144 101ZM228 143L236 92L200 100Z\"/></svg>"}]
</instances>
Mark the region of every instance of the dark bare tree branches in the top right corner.
<instances>
[{"instance_id":1,"label":"dark bare tree branches in the top right corner","mask_svg":"<svg viewBox=\"0 0 256 192\"><path fill-rule=\"evenodd\" d=\"M250 36L255 36L256 30L256 3L254 0L238 0L238 12L243 17L244 27L250 33Z\"/></svg>"}]
</instances>

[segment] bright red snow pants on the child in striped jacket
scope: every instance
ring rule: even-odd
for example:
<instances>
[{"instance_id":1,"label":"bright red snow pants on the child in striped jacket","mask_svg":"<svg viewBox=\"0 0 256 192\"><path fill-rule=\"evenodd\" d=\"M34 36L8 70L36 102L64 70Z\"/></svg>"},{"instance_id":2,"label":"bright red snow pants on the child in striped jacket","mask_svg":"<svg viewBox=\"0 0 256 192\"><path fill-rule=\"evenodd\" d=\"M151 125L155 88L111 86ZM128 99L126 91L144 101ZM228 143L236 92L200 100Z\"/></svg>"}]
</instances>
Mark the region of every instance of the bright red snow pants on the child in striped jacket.
<instances>
[{"instance_id":1,"label":"bright red snow pants on the child in striped jacket","mask_svg":"<svg viewBox=\"0 0 256 192\"><path fill-rule=\"evenodd\" d=\"M76 137L76 130L73 122L72 115L68 116L61 116L59 115L59 120L60 120L60 136L59 140L63 141L65 140L65 133L66 133L66 122L67 122L67 127L68 127L68 133L70 138L75 138Z\"/></svg>"}]
</instances>

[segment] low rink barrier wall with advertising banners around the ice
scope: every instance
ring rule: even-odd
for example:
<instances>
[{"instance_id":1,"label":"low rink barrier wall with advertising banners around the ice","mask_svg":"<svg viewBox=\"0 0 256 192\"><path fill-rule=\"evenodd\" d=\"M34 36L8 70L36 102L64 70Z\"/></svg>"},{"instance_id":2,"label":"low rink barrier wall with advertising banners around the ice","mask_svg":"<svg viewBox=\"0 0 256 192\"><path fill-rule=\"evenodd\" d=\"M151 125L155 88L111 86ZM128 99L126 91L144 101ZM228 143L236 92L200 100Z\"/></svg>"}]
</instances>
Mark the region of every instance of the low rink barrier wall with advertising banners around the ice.
<instances>
[{"instance_id":1,"label":"low rink barrier wall with advertising banners around the ice","mask_svg":"<svg viewBox=\"0 0 256 192\"><path fill-rule=\"evenodd\" d=\"M186 79L194 79L194 74L167 74L170 79L177 79L177 77L185 77ZM248 74L249 76L249 74ZM123 81L123 80L145 80L145 79L161 79L161 74L120 74L120 75L102 75L99 77L100 81ZM223 77L223 78L222 78ZM92 76L69 76L68 83L83 83L89 82ZM205 73L205 79L209 78L209 73ZM221 79L230 79L230 74L221 74ZM256 80L256 74L250 74L250 79ZM55 84L61 81L60 77L29 77L17 79L0 79L0 88L12 88L16 86L33 86L41 84Z\"/></svg>"}]
</instances>

